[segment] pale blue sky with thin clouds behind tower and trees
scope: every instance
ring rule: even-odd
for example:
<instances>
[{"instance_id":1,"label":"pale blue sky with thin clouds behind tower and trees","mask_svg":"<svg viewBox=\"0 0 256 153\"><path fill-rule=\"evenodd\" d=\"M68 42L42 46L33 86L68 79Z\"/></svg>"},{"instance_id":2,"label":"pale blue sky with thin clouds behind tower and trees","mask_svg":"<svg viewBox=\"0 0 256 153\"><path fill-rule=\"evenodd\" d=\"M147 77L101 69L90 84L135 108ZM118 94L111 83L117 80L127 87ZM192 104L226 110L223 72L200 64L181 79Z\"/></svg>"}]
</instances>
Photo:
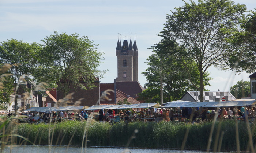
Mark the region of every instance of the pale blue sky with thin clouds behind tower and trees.
<instances>
[{"instance_id":1,"label":"pale blue sky with thin clouds behind tower and trees","mask_svg":"<svg viewBox=\"0 0 256 153\"><path fill-rule=\"evenodd\" d=\"M188 0L185 0L188 1ZM233 0L245 4L248 10L256 8L256 0ZM195 0L197 3L197 1ZM0 0L0 42L13 39L23 42L42 41L54 31L87 36L105 58L99 67L108 69L101 83L113 83L117 77L116 44L131 39L139 50L139 83L144 87L146 77L141 73L152 54L148 49L161 38L157 36L166 23L166 14L184 5L182 0ZM249 81L251 74L236 74L208 68L212 86L210 91L229 91L238 81Z\"/></svg>"}]
</instances>

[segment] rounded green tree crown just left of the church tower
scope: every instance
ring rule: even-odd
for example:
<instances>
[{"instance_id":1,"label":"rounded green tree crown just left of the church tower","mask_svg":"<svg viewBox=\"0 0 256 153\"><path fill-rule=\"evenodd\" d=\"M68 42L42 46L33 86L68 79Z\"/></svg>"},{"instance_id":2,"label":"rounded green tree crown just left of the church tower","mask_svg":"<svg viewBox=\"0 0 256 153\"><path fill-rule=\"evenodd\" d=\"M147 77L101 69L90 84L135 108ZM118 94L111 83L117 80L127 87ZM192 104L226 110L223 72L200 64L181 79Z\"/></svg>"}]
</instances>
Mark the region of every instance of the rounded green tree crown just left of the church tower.
<instances>
[{"instance_id":1,"label":"rounded green tree crown just left of the church tower","mask_svg":"<svg viewBox=\"0 0 256 153\"><path fill-rule=\"evenodd\" d=\"M98 70L102 52L97 52L97 45L86 36L79 38L78 34L58 34L55 31L54 35L42 41L45 43L45 65L40 67L40 71L45 76L38 81L48 83L48 78L52 78L55 82L61 82L58 87L64 95L69 93L71 83L75 88L93 88L95 77L101 78L105 73ZM86 85L80 83L81 81L86 82Z\"/></svg>"}]
</instances>

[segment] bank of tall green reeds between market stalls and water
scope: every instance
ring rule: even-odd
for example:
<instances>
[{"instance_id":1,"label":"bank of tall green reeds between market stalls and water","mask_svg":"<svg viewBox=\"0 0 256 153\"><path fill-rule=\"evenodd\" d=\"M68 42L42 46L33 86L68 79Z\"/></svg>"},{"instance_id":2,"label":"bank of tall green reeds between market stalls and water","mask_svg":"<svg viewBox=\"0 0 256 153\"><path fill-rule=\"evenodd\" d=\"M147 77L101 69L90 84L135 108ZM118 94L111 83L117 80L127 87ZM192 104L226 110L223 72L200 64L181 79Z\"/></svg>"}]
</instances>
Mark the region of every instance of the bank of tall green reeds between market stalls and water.
<instances>
[{"instance_id":1,"label":"bank of tall green reeds between market stalls and water","mask_svg":"<svg viewBox=\"0 0 256 153\"><path fill-rule=\"evenodd\" d=\"M248 150L249 136L245 122L238 123L240 150ZM38 145L82 145L86 122L69 121L54 125L23 124L16 126L17 134L28 138ZM236 123L234 121L217 122L214 125L210 149L237 150ZM132 122L128 125L118 123L93 123L87 130L88 146L126 146L139 148L187 148L207 149L212 122L205 123L176 123L176 122ZM187 131L189 129L189 131ZM255 144L256 131L254 124L250 125L250 133ZM135 131L138 130L137 133ZM182 142L187 139L184 146ZM50 133L50 134L49 134ZM136 136L131 139L132 136ZM50 137L49 137L50 136ZM129 143L129 139L131 140ZM22 142L18 144L28 144Z\"/></svg>"}]
</instances>

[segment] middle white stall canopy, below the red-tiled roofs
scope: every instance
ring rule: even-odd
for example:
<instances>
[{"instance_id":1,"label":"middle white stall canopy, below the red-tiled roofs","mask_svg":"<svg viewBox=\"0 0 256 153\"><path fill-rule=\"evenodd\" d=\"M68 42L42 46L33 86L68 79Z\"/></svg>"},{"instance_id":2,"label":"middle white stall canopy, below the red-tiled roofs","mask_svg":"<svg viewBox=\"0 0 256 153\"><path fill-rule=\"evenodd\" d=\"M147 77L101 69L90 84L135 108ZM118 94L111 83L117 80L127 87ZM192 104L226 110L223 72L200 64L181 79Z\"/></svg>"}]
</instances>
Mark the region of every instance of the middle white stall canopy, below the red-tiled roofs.
<instances>
[{"instance_id":1,"label":"middle white stall canopy, below the red-tiled roofs","mask_svg":"<svg viewBox=\"0 0 256 153\"><path fill-rule=\"evenodd\" d=\"M95 109L129 109L129 108L149 108L149 107L161 107L159 103L139 103L139 104L123 104L123 105L93 105L86 110Z\"/></svg>"}]
</instances>

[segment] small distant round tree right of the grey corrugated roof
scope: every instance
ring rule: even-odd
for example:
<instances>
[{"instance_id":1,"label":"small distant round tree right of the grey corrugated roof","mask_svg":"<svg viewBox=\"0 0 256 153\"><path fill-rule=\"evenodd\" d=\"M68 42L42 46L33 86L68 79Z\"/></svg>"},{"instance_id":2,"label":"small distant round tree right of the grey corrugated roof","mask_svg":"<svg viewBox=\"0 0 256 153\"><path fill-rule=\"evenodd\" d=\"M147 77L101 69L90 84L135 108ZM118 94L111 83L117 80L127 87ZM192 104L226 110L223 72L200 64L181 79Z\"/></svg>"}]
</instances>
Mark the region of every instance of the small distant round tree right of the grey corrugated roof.
<instances>
[{"instance_id":1,"label":"small distant round tree right of the grey corrugated roof","mask_svg":"<svg viewBox=\"0 0 256 153\"><path fill-rule=\"evenodd\" d=\"M236 85L230 87L230 93L237 99L247 97L251 93L251 86L249 81L238 81Z\"/></svg>"}]
</instances>

